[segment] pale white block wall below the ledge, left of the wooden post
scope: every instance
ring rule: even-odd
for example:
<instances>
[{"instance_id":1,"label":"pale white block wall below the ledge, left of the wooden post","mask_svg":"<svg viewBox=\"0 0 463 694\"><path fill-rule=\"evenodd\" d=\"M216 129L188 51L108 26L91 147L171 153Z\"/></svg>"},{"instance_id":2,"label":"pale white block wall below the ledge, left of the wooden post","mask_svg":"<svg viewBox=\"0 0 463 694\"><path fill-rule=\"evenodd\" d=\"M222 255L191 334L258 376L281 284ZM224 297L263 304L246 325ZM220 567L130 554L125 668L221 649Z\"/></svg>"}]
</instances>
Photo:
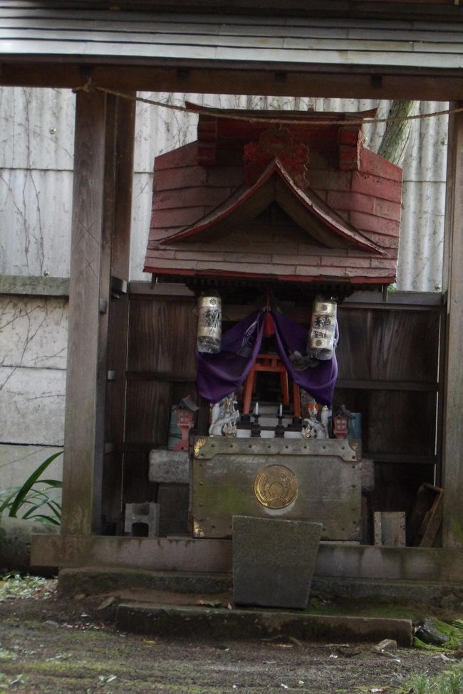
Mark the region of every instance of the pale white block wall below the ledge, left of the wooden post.
<instances>
[{"instance_id":1,"label":"pale white block wall below the ledge, left of the wooden post","mask_svg":"<svg viewBox=\"0 0 463 694\"><path fill-rule=\"evenodd\" d=\"M67 337L66 298L0 295L0 489L63 446Z\"/></svg>"}]
</instances>

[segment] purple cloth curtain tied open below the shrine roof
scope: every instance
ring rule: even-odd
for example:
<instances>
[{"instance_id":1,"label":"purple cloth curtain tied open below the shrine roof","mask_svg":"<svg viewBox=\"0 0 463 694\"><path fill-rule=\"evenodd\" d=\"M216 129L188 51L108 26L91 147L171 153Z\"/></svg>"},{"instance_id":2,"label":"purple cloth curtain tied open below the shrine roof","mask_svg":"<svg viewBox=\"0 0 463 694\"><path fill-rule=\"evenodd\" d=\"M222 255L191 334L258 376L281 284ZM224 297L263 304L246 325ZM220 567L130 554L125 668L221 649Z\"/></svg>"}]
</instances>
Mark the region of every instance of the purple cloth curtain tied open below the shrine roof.
<instances>
[{"instance_id":1,"label":"purple cloth curtain tied open below the shrine roof","mask_svg":"<svg viewBox=\"0 0 463 694\"><path fill-rule=\"evenodd\" d=\"M266 311L256 311L241 320L222 336L219 354L197 352L197 387L209 402L218 402L235 391L246 380L264 334ZM274 319L276 348L281 361L294 382L324 405L331 406L338 376L336 357L318 362L316 367L296 371L289 359L292 352L306 354L308 332L295 320L271 311Z\"/></svg>"}]
</instances>

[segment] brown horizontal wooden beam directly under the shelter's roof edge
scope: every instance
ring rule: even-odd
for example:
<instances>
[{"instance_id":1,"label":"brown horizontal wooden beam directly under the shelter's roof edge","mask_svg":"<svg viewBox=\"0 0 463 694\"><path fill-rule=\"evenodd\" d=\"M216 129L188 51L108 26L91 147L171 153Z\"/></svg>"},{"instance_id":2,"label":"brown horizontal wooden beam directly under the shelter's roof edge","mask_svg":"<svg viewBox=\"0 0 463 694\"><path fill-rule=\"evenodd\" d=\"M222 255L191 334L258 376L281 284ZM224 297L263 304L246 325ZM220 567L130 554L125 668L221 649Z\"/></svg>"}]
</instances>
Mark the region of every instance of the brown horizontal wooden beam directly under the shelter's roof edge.
<instances>
[{"instance_id":1,"label":"brown horizontal wooden beam directly under the shelter's roof edge","mask_svg":"<svg viewBox=\"0 0 463 694\"><path fill-rule=\"evenodd\" d=\"M134 61L136 59L134 58ZM73 61L43 61L40 56L9 57L1 65L0 85L77 88L87 81L81 65ZM95 85L120 91L169 91L179 93L236 93L317 98L463 100L463 76L452 70L381 69L339 65L286 65L276 63L265 69L249 61L246 65L179 63L172 65L92 64ZM181 69L180 69L181 68ZM286 75L284 83L276 73ZM378 80L380 75L381 80Z\"/></svg>"}]
</instances>

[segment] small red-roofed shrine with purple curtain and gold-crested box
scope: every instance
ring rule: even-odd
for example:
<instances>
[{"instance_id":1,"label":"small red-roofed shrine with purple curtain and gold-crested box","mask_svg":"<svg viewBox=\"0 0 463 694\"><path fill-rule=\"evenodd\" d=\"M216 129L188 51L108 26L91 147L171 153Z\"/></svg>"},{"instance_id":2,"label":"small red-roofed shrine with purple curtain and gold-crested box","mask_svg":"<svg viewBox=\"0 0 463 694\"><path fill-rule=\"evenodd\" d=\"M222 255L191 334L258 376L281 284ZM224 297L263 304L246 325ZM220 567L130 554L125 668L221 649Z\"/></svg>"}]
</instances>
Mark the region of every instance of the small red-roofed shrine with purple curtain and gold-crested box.
<instances>
[{"instance_id":1,"label":"small red-roofed shrine with purple curtain and gold-crested box","mask_svg":"<svg viewBox=\"0 0 463 694\"><path fill-rule=\"evenodd\" d=\"M145 271L206 295L214 285L241 304L266 293L310 305L315 293L342 300L394 282L402 170L363 146L372 115L202 108L197 141L155 160ZM334 332L331 310L335 302L317 320ZM338 438L328 431L335 354L295 364L307 344L306 330L268 299L224 336L222 354L199 348L197 388L214 409L209 436L194 438L189 456L194 537L230 537L232 517L248 515L319 522L324 540L363 540L373 462L347 424ZM256 393L251 414L258 372L276 374L281 394L264 396L259 413ZM301 394L313 401L302 404Z\"/></svg>"}]
</instances>

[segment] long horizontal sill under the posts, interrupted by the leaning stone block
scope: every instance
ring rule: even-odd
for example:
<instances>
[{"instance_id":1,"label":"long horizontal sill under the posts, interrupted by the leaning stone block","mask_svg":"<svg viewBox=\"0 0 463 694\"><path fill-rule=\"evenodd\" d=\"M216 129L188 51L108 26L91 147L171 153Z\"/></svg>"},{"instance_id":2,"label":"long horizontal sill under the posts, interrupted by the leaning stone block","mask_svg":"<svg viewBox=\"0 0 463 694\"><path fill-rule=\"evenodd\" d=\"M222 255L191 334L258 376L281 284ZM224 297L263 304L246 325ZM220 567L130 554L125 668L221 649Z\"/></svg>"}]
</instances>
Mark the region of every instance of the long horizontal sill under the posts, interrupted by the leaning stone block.
<instances>
[{"instance_id":1,"label":"long horizontal sill under the posts, interrupted by the leaning stone block","mask_svg":"<svg viewBox=\"0 0 463 694\"><path fill-rule=\"evenodd\" d=\"M230 540L35 535L37 566L231 573ZM463 549L321 542L314 578L463 584Z\"/></svg>"}]
</instances>

